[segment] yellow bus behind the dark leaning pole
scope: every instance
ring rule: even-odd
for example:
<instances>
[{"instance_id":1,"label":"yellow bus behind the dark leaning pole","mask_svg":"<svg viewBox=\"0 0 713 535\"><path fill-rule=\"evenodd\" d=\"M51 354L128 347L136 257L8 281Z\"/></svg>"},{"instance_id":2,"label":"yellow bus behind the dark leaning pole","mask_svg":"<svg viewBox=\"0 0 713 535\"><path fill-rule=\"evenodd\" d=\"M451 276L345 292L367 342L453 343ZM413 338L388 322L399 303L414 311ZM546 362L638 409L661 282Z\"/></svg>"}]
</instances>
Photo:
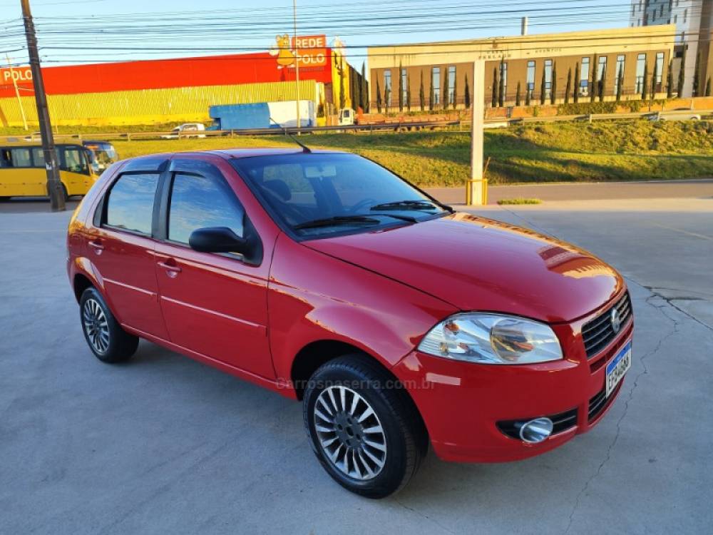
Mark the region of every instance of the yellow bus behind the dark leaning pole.
<instances>
[{"instance_id":1,"label":"yellow bus behind the dark leaning pole","mask_svg":"<svg viewBox=\"0 0 713 535\"><path fill-rule=\"evenodd\" d=\"M78 144L56 145L59 178L64 198L86 195L99 175L87 148ZM39 144L0 145L0 200L11 197L46 197L47 171Z\"/></svg>"}]
</instances>

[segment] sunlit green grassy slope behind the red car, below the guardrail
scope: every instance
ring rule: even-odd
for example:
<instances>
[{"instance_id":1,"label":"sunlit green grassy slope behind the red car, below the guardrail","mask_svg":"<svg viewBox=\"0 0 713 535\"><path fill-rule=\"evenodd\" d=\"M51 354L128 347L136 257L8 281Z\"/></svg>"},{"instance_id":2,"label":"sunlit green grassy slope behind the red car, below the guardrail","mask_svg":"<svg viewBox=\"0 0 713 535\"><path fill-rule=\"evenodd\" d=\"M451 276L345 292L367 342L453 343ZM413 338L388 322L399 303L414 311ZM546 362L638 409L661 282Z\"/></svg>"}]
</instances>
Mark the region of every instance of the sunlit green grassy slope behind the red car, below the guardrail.
<instances>
[{"instance_id":1,"label":"sunlit green grassy slope behind the red car, below the guardrail","mask_svg":"<svg viewBox=\"0 0 713 535\"><path fill-rule=\"evenodd\" d=\"M470 134L319 133L314 148L372 158L423 186L462 185L468 178ZM548 123L486 131L491 183L670 180L713 176L713 123L645 120ZM122 158L208 148L293 146L285 136L116 141Z\"/></svg>"}]
</instances>

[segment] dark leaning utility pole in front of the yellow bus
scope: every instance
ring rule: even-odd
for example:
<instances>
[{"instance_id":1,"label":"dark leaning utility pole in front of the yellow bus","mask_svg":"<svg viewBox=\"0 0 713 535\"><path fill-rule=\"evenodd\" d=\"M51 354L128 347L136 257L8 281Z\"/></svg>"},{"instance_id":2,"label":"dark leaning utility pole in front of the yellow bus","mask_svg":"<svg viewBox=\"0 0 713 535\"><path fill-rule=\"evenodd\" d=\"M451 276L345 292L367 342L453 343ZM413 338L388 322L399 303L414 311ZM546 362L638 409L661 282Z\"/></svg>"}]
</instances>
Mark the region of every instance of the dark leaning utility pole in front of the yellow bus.
<instances>
[{"instance_id":1,"label":"dark leaning utility pole in front of the yellow bus","mask_svg":"<svg viewBox=\"0 0 713 535\"><path fill-rule=\"evenodd\" d=\"M61 180L59 179L59 164L57 161L57 153L54 150L54 136L52 135L52 124L49 120L47 95L45 94L42 71L40 69L40 56L37 50L35 24L32 21L30 0L20 0L20 3L22 4L22 19L25 24L27 52L30 56L32 83L35 88L37 118L39 119L40 133L42 136L42 152L44 153L45 168L47 170L47 193L49 193L52 211L61 212L65 210L64 191Z\"/></svg>"}]
</instances>

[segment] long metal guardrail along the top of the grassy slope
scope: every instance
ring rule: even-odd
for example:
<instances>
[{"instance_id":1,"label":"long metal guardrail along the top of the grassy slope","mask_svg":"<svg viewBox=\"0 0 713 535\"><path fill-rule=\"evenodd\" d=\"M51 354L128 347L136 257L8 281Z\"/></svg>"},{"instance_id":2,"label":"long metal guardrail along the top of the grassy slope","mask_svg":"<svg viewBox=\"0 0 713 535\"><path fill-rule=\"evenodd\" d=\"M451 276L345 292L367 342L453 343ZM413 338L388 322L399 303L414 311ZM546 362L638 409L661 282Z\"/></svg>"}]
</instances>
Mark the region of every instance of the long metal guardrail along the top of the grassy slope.
<instances>
[{"instance_id":1,"label":"long metal guardrail along the top of the grassy slope","mask_svg":"<svg viewBox=\"0 0 713 535\"><path fill-rule=\"evenodd\" d=\"M518 118L488 118L485 121L488 125L515 126L525 123L555 123L559 121L616 121L619 119L634 119L655 116L657 111L642 111L637 113L592 113L585 115L568 116L546 116L546 117L518 117ZM665 116L695 114L707 116L713 114L713 110L670 110L661 112ZM188 139L188 138L208 138L208 137L236 137L236 136L275 136L279 134L319 133L319 132L380 132L380 131L410 131L424 130L432 128L458 127L459 131L470 126L470 119L461 121L394 121L386 123L369 123L360 125L337 125L337 126L313 126L307 128L253 128L250 130L206 130L200 133L178 133L175 132L107 132L107 133L76 133L76 134L55 134L56 141L83 141L84 139L96 141L132 141L139 139ZM168 137L170 136L170 137ZM32 134L24 136L16 134L14 136L0 136L0 141L6 143L17 143L24 141L39 141L39 135Z\"/></svg>"}]
</instances>

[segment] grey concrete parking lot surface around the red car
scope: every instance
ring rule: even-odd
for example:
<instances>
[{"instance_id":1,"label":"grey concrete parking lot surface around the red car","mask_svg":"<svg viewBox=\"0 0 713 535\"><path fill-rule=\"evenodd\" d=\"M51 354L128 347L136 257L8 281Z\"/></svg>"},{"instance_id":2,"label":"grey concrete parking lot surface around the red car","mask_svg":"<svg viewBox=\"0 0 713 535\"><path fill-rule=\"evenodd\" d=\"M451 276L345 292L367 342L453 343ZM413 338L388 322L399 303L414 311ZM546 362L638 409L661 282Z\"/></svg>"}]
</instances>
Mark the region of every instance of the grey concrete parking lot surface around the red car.
<instances>
[{"instance_id":1,"label":"grey concrete parking lot surface around the red car","mask_svg":"<svg viewBox=\"0 0 713 535\"><path fill-rule=\"evenodd\" d=\"M68 213L0 205L0 533L702 534L713 526L713 200L545 203L488 217L629 282L634 364L607 418L542 457L429 455L382 501L334 484L299 404L142 343L107 366L64 272Z\"/></svg>"}]
</instances>

